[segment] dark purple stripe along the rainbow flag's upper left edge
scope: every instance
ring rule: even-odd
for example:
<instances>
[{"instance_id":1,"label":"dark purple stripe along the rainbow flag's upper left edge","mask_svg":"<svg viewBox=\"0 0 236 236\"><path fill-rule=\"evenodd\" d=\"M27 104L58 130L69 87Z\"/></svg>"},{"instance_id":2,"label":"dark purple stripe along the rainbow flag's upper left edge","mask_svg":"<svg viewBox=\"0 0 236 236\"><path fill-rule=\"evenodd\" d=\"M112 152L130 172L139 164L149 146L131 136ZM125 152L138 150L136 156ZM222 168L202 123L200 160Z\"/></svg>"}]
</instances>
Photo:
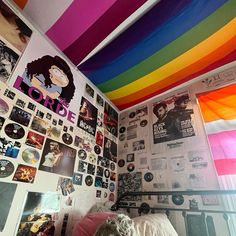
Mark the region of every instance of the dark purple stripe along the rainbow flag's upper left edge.
<instances>
[{"instance_id":1,"label":"dark purple stripe along the rainbow flag's upper left edge","mask_svg":"<svg viewBox=\"0 0 236 236\"><path fill-rule=\"evenodd\" d=\"M78 68L81 71L99 69L104 64L112 61L134 44L141 41L146 35L162 25L190 2L190 0L159 2L136 23L129 27L125 31L125 34L118 36L109 45L98 52L95 57L90 58Z\"/></svg>"}]
</instances>

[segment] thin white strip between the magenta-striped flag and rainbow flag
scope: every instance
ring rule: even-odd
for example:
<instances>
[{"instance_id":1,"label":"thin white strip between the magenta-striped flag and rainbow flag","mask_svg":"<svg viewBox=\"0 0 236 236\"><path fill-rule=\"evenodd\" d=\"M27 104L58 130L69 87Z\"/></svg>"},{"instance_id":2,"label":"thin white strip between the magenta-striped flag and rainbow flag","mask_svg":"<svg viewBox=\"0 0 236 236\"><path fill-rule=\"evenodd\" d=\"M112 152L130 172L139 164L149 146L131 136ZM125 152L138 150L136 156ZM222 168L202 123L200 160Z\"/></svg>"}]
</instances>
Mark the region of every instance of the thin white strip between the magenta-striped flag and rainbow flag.
<instances>
[{"instance_id":1,"label":"thin white strip between the magenta-striped flag and rainbow flag","mask_svg":"<svg viewBox=\"0 0 236 236\"><path fill-rule=\"evenodd\" d=\"M122 32L124 32L128 27L134 24L138 19L140 19L147 11L154 7L161 0L147 0L139 9L137 9L132 15L130 15L125 21L123 21L116 29L114 29L100 44L97 45L78 65L87 61L90 57L99 52L112 40L118 37ZM77 66L78 66L77 65Z\"/></svg>"}]
</instances>

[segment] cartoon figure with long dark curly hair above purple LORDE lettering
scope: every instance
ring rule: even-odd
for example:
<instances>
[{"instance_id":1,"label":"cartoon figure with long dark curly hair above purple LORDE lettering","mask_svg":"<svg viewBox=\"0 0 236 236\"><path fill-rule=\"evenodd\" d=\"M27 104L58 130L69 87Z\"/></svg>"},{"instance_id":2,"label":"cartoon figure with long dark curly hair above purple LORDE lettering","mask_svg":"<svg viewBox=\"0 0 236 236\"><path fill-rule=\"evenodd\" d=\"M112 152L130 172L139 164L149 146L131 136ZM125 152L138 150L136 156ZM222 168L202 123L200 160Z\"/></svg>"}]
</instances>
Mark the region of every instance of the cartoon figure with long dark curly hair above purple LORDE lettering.
<instances>
[{"instance_id":1,"label":"cartoon figure with long dark curly hair above purple LORDE lettering","mask_svg":"<svg viewBox=\"0 0 236 236\"><path fill-rule=\"evenodd\" d=\"M75 93L69 65L59 56L46 55L27 64L14 85L31 99L73 122L69 104Z\"/></svg>"}]
</instances>

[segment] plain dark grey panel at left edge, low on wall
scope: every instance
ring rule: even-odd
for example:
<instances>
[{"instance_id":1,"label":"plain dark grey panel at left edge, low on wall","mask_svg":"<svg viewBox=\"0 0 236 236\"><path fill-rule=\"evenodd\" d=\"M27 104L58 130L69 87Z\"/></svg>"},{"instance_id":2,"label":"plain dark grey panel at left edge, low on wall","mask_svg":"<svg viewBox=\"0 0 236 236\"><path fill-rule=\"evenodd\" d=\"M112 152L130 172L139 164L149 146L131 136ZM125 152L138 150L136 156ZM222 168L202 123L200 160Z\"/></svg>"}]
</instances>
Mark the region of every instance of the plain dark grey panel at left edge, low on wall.
<instances>
[{"instance_id":1,"label":"plain dark grey panel at left edge, low on wall","mask_svg":"<svg viewBox=\"0 0 236 236\"><path fill-rule=\"evenodd\" d=\"M7 221L16 186L16 184L0 182L0 232L3 231Z\"/></svg>"}]
</instances>

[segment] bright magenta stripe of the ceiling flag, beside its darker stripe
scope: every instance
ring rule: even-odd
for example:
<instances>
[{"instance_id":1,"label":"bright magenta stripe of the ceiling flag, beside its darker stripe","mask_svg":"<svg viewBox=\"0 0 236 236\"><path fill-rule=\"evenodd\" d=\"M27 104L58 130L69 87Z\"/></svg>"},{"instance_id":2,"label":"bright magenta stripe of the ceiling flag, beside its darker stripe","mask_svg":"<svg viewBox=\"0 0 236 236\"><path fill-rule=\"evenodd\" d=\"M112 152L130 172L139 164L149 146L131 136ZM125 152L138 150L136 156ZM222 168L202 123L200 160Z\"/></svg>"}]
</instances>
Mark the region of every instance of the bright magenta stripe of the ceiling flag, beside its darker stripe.
<instances>
[{"instance_id":1,"label":"bright magenta stripe of the ceiling flag, beside its darker stripe","mask_svg":"<svg viewBox=\"0 0 236 236\"><path fill-rule=\"evenodd\" d=\"M80 37L117 0L74 0L46 35L64 50ZM73 29L73 30L71 30Z\"/></svg>"}]
</instances>

